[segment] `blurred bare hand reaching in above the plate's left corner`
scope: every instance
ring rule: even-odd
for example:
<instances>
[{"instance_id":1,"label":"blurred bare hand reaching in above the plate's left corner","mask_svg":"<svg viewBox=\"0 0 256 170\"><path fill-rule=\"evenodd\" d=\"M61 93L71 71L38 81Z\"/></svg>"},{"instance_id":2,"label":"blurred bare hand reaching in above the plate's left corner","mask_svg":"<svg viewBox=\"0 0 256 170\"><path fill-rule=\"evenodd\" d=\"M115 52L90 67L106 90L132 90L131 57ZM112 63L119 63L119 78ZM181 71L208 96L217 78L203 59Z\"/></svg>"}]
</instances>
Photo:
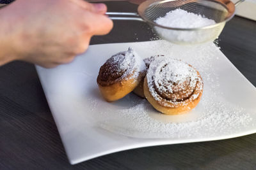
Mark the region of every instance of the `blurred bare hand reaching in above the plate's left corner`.
<instances>
[{"instance_id":1,"label":"blurred bare hand reaching in above the plate's left corner","mask_svg":"<svg viewBox=\"0 0 256 170\"><path fill-rule=\"evenodd\" d=\"M43 67L71 62L92 36L111 31L106 11L104 4L83 0L16 0L0 9L0 66L12 60Z\"/></svg>"}]
</instances>

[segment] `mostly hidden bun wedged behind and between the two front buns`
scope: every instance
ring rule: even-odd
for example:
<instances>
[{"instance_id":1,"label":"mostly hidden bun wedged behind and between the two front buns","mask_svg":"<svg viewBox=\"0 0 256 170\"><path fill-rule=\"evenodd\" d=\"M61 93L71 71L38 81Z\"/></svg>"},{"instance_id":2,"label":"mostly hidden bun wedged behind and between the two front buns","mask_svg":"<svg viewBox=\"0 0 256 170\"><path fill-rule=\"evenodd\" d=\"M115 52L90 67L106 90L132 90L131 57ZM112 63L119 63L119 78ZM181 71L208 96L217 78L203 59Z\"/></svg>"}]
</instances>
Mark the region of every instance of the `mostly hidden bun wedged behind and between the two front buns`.
<instances>
[{"instance_id":1,"label":"mostly hidden bun wedged behind and between the two front buns","mask_svg":"<svg viewBox=\"0 0 256 170\"><path fill-rule=\"evenodd\" d=\"M160 56L163 57L164 55L154 55L154 56L148 57L148 58L143 60L145 62L145 65L146 65L146 69L144 71L145 76L147 74L147 70L148 70L148 67L150 66L150 63L152 61L154 61L157 57L160 57ZM142 98L145 98L143 85L144 85L144 78L140 81L139 85L133 90L133 92L134 92L134 94L137 94L138 96L140 96Z\"/></svg>"}]
</instances>

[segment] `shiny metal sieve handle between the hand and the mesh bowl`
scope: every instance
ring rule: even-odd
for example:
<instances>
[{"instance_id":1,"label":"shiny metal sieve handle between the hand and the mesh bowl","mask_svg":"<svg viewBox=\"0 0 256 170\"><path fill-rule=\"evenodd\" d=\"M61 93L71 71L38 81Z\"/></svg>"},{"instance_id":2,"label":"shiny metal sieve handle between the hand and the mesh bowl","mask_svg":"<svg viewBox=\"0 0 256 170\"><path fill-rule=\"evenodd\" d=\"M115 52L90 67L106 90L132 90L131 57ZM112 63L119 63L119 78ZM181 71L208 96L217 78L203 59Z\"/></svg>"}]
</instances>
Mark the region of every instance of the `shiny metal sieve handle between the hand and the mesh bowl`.
<instances>
[{"instance_id":1,"label":"shiny metal sieve handle between the hand and the mesh bowl","mask_svg":"<svg viewBox=\"0 0 256 170\"><path fill-rule=\"evenodd\" d=\"M138 15L138 13L130 13L130 12L106 12L106 15L111 18L111 20L144 20Z\"/></svg>"}]
</instances>

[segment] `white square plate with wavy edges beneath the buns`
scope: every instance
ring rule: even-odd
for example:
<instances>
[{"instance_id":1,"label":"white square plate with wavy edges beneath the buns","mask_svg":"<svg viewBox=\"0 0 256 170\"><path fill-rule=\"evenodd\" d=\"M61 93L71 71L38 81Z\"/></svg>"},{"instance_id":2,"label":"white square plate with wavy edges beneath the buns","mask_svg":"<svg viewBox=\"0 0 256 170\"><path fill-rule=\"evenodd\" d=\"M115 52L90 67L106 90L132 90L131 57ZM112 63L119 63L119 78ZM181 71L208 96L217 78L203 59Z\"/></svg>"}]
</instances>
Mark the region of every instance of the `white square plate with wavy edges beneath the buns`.
<instances>
[{"instance_id":1,"label":"white square plate with wavy edges beneath the buns","mask_svg":"<svg viewBox=\"0 0 256 170\"><path fill-rule=\"evenodd\" d=\"M104 101L96 83L99 68L129 46L143 58L163 54L195 66L204 80L198 106L188 114L168 116L132 93L115 103ZM256 89L213 43L92 45L70 64L36 69L71 164L131 148L256 132Z\"/></svg>"}]
</instances>

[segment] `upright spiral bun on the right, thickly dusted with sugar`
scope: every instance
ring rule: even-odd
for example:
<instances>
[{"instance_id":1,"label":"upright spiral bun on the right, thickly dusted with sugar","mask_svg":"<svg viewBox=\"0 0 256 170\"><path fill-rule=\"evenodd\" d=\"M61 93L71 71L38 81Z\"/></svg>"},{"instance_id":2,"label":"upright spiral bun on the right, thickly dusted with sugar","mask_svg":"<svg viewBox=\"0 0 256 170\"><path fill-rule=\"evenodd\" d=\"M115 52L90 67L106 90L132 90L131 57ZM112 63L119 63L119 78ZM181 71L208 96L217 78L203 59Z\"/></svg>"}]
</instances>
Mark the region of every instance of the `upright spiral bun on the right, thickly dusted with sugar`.
<instances>
[{"instance_id":1,"label":"upright spiral bun on the right, thickly dusted with sugar","mask_svg":"<svg viewBox=\"0 0 256 170\"><path fill-rule=\"evenodd\" d=\"M186 62L159 57L150 64L143 87L156 110L178 115L195 108L204 84L198 71Z\"/></svg>"}]
</instances>

